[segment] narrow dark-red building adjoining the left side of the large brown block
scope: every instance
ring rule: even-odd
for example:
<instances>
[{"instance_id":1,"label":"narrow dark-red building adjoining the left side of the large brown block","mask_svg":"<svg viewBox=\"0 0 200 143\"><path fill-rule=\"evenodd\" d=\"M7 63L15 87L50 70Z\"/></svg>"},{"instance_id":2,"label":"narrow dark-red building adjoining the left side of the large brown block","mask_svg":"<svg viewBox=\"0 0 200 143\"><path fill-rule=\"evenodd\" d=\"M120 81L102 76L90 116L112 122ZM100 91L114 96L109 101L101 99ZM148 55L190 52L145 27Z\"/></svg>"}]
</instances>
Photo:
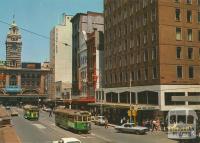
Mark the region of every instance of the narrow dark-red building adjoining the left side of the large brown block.
<instances>
[{"instance_id":1,"label":"narrow dark-red building adjoining the left side of the large brown block","mask_svg":"<svg viewBox=\"0 0 200 143\"><path fill-rule=\"evenodd\" d=\"M94 96L95 91L100 93L103 84L104 37L103 32L97 30L87 35L87 91L90 96Z\"/></svg>"}]
</instances>

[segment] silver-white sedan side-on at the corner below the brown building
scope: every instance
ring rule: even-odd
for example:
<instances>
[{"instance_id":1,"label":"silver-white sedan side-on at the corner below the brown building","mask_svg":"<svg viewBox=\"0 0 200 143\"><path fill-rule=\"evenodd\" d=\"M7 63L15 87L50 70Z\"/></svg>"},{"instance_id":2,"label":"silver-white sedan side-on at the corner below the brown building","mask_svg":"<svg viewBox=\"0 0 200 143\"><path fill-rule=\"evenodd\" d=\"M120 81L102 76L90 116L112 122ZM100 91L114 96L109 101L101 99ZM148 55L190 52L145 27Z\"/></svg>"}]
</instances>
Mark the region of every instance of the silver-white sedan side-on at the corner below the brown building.
<instances>
[{"instance_id":1,"label":"silver-white sedan side-on at the corner below the brown building","mask_svg":"<svg viewBox=\"0 0 200 143\"><path fill-rule=\"evenodd\" d=\"M147 127L134 126L134 123L124 123L121 126L115 126L118 132L128 132L135 134L145 134L148 131Z\"/></svg>"}]
</instances>

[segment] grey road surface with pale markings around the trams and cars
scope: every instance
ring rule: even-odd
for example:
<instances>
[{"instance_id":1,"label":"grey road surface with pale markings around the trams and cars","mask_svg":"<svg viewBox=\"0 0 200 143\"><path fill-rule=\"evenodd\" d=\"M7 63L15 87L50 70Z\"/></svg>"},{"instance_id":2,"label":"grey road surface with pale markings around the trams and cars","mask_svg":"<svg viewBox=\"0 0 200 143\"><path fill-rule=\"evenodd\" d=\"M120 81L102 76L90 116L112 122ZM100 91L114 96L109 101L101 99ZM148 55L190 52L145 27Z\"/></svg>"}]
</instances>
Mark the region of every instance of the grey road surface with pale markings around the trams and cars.
<instances>
[{"instance_id":1,"label":"grey road surface with pale markings around the trams and cars","mask_svg":"<svg viewBox=\"0 0 200 143\"><path fill-rule=\"evenodd\" d=\"M54 117L40 111L39 121L23 118L23 109L17 109L19 116L12 117L12 124L22 143L49 143L61 137L76 137L83 143L176 143L167 139L163 132L149 132L146 135L117 133L113 127L92 125L90 134L75 134L55 126Z\"/></svg>"}]
</instances>

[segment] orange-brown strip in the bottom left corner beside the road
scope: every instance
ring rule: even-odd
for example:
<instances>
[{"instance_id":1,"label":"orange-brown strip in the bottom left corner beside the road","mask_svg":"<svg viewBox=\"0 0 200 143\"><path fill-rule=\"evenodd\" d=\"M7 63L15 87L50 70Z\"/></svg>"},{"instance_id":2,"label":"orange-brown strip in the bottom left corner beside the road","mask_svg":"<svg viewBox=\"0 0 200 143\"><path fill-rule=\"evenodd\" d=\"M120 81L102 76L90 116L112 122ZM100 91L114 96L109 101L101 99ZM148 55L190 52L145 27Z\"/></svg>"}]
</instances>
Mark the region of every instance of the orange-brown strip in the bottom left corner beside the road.
<instances>
[{"instance_id":1,"label":"orange-brown strip in the bottom left corner beside the road","mask_svg":"<svg viewBox=\"0 0 200 143\"><path fill-rule=\"evenodd\" d=\"M0 143L21 143L11 125L9 113L2 106L0 106Z\"/></svg>"}]
</instances>

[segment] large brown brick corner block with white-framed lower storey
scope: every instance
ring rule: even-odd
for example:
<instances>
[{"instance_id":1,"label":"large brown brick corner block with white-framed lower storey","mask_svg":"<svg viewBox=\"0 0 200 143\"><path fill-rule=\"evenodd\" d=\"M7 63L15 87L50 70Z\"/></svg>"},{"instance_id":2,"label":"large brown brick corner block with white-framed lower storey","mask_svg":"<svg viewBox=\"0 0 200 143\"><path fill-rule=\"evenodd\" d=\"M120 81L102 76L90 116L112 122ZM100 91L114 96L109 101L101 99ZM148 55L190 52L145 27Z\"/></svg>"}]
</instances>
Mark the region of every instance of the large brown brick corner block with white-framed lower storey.
<instances>
[{"instance_id":1,"label":"large brown brick corner block with white-framed lower storey","mask_svg":"<svg viewBox=\"0 0 200 143\"><path fill-rule=\"evenodd\" d=\"M172 101L200 95L199 8L197 0L104 0L105 104L199 109Z\"/></svg>"}]
</instances>

